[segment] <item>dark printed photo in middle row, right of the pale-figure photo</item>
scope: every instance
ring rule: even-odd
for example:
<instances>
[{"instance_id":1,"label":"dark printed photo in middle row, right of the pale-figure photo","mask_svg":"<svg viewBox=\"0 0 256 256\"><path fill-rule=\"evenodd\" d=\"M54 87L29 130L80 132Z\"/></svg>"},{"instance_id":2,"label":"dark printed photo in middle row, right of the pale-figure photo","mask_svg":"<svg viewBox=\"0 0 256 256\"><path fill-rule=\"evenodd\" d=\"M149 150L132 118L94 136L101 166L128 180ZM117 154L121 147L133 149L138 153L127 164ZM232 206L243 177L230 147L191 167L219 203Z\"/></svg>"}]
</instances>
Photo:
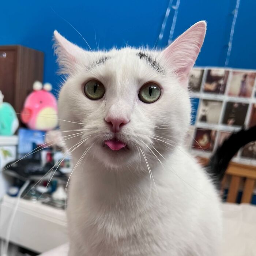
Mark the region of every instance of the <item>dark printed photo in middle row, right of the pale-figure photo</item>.
<instances>
[{"instance_id":1,"label":"dark printed photo in middle row, right of the pale-figure photo","mask_svg":"<svg viewBox=\"0 0 256 256\"><path fill-rule=\"evenodd\" d=\"M222 123L227 125L244 125L247 110L247 103L227 102Z\"/></svg>"}]
</instances>

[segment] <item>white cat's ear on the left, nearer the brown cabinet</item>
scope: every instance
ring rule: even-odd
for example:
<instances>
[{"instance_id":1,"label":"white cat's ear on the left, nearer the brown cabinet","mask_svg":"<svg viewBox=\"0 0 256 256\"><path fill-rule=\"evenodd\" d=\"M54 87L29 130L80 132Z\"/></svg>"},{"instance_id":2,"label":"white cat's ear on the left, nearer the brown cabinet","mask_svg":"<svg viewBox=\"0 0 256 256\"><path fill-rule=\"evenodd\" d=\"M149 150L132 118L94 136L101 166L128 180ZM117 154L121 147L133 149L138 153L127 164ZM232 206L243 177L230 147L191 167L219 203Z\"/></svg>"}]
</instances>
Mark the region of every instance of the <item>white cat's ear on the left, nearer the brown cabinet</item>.
<instances>
[{"instance_id":1,"label":"white cat's ear on the left, nearer the brown cabinet","mask_svg":"<svg viewBox=\"0 0 256 256\"><path fill-rule=\"evenodd\" d=\"M81 59L87 59L87 52L69 42L57 30L53 33L54 53L60 66L60 74L72 74Z\"/></svg>"}]
</instances>

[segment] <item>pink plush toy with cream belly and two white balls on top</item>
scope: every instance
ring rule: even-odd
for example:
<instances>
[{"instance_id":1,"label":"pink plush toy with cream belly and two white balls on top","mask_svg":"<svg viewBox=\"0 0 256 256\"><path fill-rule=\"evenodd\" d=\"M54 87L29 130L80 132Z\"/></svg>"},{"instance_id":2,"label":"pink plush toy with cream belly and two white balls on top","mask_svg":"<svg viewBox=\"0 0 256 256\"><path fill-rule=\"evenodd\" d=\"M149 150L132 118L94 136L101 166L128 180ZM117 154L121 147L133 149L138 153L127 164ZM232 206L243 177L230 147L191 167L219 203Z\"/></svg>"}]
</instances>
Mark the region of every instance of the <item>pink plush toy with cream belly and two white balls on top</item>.
<instances>
[{"instance_id":1,"label":"pink plush toy with cream belly and two white balls on top","mask_svg":"<svg viewBox=\"0 0 256 256\"><path fill-rule=\"evenodd\" d=\"M29 94L23 106L21 120L30 129L49 131L57 126L57 101L50 91L52 85L35 81L34 91Z\"/></svg>"}]
</instances>

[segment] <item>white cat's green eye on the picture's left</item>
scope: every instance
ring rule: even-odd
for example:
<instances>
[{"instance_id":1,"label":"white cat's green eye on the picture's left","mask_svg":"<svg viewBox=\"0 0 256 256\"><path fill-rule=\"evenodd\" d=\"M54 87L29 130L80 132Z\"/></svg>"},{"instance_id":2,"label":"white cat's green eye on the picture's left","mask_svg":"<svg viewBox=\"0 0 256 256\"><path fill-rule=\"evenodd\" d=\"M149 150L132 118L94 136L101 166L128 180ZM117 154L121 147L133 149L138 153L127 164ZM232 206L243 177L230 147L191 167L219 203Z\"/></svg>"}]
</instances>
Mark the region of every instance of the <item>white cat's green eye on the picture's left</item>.
<instances>
[{"instance_id":1,"label":"white cat's green eye on the picture's left","mask_svg":"<svg viewBox=\"0 0 256 256\"><path fill-rule=\"evenodd\" d=\"M89 99L101 99L105 93L105 88L101 82L90 80L84 85L84 93Z\"/></svg>"}]
</instances>

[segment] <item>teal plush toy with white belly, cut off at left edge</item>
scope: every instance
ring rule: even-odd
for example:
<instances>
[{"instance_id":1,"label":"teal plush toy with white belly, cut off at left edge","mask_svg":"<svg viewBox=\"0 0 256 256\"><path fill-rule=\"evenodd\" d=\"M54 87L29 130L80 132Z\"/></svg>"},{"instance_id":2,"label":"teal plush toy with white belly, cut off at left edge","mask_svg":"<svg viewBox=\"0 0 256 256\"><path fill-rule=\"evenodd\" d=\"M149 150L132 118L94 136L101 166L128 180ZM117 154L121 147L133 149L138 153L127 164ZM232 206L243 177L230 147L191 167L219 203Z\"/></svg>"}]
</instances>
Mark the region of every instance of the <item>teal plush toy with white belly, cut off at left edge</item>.
<instances>
[{"instance_id":1,"label":"teal plush toy with white belly, cut off at left edge","mask_svg":"<svg viewBox=\"0 0 256 256\"><path fill-rule=\"evenodd\" d=\"M14 108L8 102L3 102L3 94L0 91L0 135L11 136L19 126L19 121Z\"/></svg>"}]
</instances>

